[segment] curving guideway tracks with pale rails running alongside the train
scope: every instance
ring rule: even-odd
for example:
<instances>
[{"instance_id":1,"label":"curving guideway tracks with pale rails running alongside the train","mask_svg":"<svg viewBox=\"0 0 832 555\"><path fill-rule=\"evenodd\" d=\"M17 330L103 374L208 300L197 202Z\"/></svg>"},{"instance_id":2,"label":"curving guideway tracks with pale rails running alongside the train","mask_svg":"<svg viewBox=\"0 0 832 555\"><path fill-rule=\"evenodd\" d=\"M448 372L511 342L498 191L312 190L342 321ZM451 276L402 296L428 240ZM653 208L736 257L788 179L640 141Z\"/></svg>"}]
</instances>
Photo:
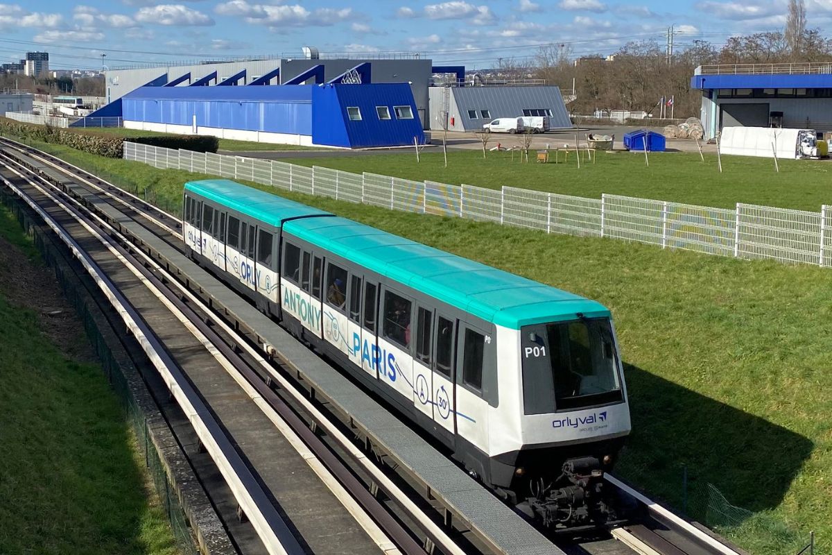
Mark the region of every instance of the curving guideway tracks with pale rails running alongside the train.
<instances>
[{"instance_id":1,"label":"curving guideway tracks with pale rails running alongside the train","mask_svg":"<svg viewBox=\"0 0 832 555\"><path fill-rule=\"evenodd\" d=\"M337 525L324 522L324 518L305 526L296 514L286 514L290 507L300 504L307 511L334 508L330 512L338 514L327 517L331 519L349 514L352 527L363 533L355 533L355 553L370 553L366 551L368 546L372 546L371 551L384 553L741 553L612 476L607 476L608 484L631 505L631 524L611 530L608 538L567 543L557 540L557 545L482 486L474 484L479 491L471 489L471 483L463 478L473 480L464 473L460 478L461 471L449 461L433 468L433 478L455 480L457 489L465 495L448 493L424 476L413 463L414 453L400 453L399 447L384 437L389 423L378 419L384 416L384 409L374 408L373 418L369 418L364 405L374 402L366 395L357 405L334 398L333 391L344 394L348 389L343 379L324 384L313 371L322 364L314 360L316 355L293 343L279 328L273 329L277 328L274 322L259 315L245 300L234 299L230 289L186 259L181 221L176 216L14 141L0 141L0 162L6 166L2 171L6 186L47 223L51 222L49 225L62 235L79 260L87 261L87 271L97 275L102 290L111 291L105 295L121 306L122 320L140 339L146 355L191 420L201 445L219 468L225 488L233 493L235 511L227 514L226 508L222 517L226 526L245 537L245 529L233 522L236 513L245 513L267 553L327 553L332 549L323 542L318 545L315 538ZM73 230L80 239L75 238ZM100 255L102 260L98 261L82 248L96 244L92 250ZM123 280L107 277L120 273L125 275ZM136 280L163 305L166 312L158 314L166 316L154 315L146 300L121 294L119 285L123 290L136 290ZM173 327L171 315L180 326L176 330L166 330ZM157 322L161 324L161 320L166 324L160 330ZM266 326L270 326L268 332ZM175 345L186 336L187 347L163 344L160 336L174 339ZM199 364L195 350L201 353L203 362ZM181 352L195 359L176 359L174 355ZM195 366L210 367L215 372L189 373ZM222 387L215 385L218 376L225 384ZM212 390L219 391L215 405L210 404ZM233 402L228 402L229 397ZM235 426L230 413L224 412L229 409L225 405L240 409L243 399L254 409L252 414L260 413L259 419L243 419L248 429ZM364 412L355 409L359 405ZM264 434L282 440L270 443L253 437ZM411 433L408 439L418 436ZM245 448L240 447L243 444ZM258 454L258 444L267 453ZM275 493L281 490L280 480L295 478L276 473L270 479L267 461L289 446L295 453L292 468L305 464L309 475L318 481L315 495L319 498L297 493L295 497L289 494L278 498ZM427 452L429 446L422 442L419 448ZM305 487L312 488L312 482L306 480ZM322 502L329 499L327 495L338 503ZM469 504L493 514L469 513L463 502L472 499L476 503ZM225 505L217 503L222 513L220 505ZM506 526L488 529L497 524ZM238 544L240 551L249 551L245 542ZM251 550L258 553L257 546ZM349 551L346 543L339 543L332 553Z\"/></svg>"}]
</instances>

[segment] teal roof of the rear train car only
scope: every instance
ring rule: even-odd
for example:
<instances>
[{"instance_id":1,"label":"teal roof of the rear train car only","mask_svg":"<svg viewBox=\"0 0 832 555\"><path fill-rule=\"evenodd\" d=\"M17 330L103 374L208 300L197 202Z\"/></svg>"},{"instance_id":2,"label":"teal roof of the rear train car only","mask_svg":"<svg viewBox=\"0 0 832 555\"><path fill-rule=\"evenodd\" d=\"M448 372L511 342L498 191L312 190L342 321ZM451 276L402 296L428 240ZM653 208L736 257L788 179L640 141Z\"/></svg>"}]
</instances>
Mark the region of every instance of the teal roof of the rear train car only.
<instances>
[{"instance_id":1,"label":"teal roof of the rear train car only","mask_svg":"<svg viewBox=\"0 0 832 555\"><path fill-rule=\"evenodd\" d=\"M228 206L246 216L267 224L280 227L291 218L305 216L333 216L329 212L290 201L281 196L272 195L253 187L240 185L227 179L206 179L189 181L186 191L193 191L209 201Z\"/></svg>"}]
</instances>

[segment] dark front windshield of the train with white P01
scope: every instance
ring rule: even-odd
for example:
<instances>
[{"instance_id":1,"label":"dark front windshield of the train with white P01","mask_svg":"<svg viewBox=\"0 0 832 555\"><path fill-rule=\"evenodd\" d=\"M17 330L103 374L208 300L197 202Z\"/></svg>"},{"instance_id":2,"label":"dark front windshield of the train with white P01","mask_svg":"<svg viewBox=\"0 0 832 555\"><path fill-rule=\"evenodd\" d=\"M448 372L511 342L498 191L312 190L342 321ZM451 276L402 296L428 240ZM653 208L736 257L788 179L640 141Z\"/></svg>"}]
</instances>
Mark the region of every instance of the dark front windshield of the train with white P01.
<instances>
[{"instance_id":1,"label":"dark front windshield of the train with white P01","mask_svg":"<svg viewBox=\"0 0 832 555\"><path fill-rule=\"evenodd\" d=\"M623 399L609 320L527 325L521 333L526 414L582 409Z\"/></svg>"}]
</instances>

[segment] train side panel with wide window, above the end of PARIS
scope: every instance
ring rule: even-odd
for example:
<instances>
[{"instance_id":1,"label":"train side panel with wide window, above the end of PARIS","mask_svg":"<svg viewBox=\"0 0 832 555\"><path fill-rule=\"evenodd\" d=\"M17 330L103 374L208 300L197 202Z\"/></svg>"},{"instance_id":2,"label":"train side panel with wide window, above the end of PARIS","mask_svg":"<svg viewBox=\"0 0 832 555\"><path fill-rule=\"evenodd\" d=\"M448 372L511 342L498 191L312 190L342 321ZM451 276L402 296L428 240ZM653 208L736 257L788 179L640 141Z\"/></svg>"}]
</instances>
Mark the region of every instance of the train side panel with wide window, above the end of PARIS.
<instances>
[{"instance_id":1,"label":"train side panel with wide window, above the end of PARIS","mask_svg":"<svg viewBox=\"0 0 832 555\"><path fill-rule=\"evenodd\" d=\"M379 379L399 394L414 399L411 322L415 303L386 287L382 290L381 333L379 333ZM380 353L379 353L380 351Z\"/></svg>"}]
</instances>

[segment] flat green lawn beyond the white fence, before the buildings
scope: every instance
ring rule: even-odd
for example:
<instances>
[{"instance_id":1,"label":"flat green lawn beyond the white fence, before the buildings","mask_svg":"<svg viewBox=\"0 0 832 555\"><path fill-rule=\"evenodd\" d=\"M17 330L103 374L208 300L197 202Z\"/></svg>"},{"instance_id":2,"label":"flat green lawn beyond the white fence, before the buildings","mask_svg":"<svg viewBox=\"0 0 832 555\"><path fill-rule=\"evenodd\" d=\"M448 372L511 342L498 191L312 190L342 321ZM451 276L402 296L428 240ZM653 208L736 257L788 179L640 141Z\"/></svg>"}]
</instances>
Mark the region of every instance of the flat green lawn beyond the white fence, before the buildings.
<instances>
[{"instance_id":1,"label":"flat green lawn beyond the white fence, before the buildings","mask_svg":"<svg viewBox=\"0 0 832 555\"><path fill-rule=\"evenodd\" d=\"M496 145L494 142L492 145ZM832 204L832 161L780 161L780 173L774 162L763 158L725 156L723 173L716 166L716 154L655 152L650 167L643 153L599 152L596 164L582 163L578 170L574 155L569 163L537 164L519 162L515 154L482 151L453 151L444 167L441 151L424 151L421 162L415 154L379 154L377 156L340 156L281 159L303 166L325 166L361 173L369 171L384 176L415 181L431 180L452 185L474 185L498 189L502 186L524 187L563 195L600 198L610 195L637 196L657 201L733 208L737 202L820 211Z\"/></svg>"}]
</instances>

